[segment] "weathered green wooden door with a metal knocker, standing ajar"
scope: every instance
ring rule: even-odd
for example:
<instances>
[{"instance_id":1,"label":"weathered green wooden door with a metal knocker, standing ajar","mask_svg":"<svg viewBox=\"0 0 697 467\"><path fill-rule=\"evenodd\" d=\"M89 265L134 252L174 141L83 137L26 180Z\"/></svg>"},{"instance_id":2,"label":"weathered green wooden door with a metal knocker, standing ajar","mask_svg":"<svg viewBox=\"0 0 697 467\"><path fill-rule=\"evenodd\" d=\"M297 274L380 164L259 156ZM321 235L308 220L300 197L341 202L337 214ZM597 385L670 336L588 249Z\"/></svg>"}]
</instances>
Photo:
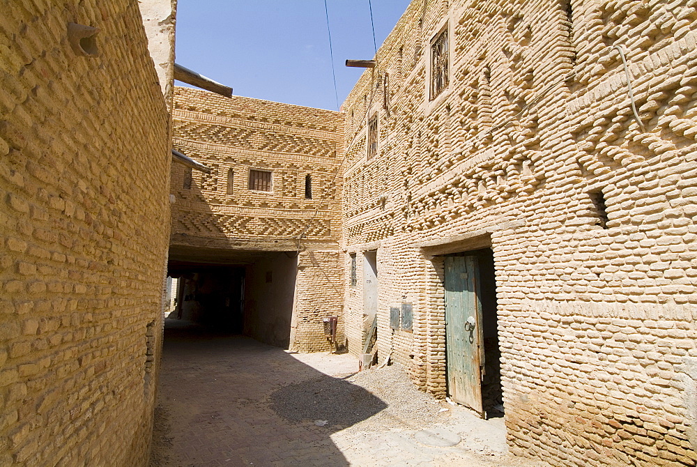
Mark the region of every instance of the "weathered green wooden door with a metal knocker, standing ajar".
<instances>
[{"instance_id":1,"label":"weathered green wooden door with a metal knocker, standing ajar","mask_svg":"<svg viewBox=\"0 0 697 467\"><path fill-rule=\"evenodd\" d=\"M484 417L477 257L445 257L445 362L450 398Z\"/></svg>"}]
</instances>

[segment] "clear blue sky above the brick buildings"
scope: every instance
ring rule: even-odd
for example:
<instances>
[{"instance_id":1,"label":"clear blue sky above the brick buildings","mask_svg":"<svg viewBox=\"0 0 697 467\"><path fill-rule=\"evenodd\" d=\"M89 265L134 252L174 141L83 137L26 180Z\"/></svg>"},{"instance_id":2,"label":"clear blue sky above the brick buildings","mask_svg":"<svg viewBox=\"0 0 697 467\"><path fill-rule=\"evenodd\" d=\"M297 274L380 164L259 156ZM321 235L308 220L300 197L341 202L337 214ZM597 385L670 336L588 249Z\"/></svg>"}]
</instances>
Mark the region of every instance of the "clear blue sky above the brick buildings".
<instances>
[{"instance_id":1,"label":"clear blue sky above the brick buildings","mask_svg":"<svg viewBox=\"0 0 697 467\"><path fill-rule=\"evenodd\" d=\"M339 105L372 59L368 0L327 0ZM378 48L408 0L372 0ZM179 0L176 62L233 93L337 109L324 0ZM182 83L177 83L181 85Z\"/></svg>"}]
</instances>

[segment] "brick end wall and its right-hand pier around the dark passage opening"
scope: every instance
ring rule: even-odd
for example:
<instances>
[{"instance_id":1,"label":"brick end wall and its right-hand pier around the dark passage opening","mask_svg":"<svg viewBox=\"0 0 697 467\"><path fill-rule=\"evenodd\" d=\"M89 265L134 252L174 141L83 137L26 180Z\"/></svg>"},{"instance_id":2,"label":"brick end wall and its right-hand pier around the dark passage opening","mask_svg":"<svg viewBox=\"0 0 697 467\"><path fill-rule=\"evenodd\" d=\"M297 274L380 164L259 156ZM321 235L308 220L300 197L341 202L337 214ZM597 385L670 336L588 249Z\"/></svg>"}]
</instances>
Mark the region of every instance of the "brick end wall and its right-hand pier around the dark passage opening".
<instances>
[{"instance_id":1,"label":"brick end wall and its right-hand pier around the dark passage opening","mask_svg":"<svg viewBox=\"0 0 697 467\"><path fill-rule=\"evenodd\" d=\"M293 259L298 270L290 348L328 351L322 319L342 316L343 271L337 250L343 115L183 87L175 89L174 100L175 147L212 172L173 167L172 245L192 252L200 247L221 252L300 250ZM252 169L272 172L270 192L250 190ZM311 199L305 197L308 175ZM263 273L263 267L261 261L249 270ZM273 319L265 313L272 314L259 309L250 315L257 317L249 323L255 329L252 335L273 342L262 337L265 320ZM342 329L343 319L339 323Z\"/></svg>"}]
</instances>

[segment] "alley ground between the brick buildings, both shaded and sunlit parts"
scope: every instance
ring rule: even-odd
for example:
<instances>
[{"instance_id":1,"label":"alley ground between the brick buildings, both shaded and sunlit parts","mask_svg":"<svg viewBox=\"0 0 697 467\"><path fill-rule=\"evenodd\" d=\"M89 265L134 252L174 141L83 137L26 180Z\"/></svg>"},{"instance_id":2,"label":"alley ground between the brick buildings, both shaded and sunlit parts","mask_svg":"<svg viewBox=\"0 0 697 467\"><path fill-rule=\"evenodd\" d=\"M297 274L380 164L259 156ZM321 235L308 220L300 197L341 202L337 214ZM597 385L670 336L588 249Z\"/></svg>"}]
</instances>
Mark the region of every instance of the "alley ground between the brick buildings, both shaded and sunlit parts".
<instances>
[{"instance_id":1,"label":"alley ground between the brick buildings, both shaded and sunlit parts","mask_svg":"<svg viewBox=\"0 0 697 467\"><path fill-rule=\"evenodd\" d=\"M399 365L357 369L167 320L151 467L540 465L506 454L503 418L432 399Z\"/></svg>"}]
</instances>

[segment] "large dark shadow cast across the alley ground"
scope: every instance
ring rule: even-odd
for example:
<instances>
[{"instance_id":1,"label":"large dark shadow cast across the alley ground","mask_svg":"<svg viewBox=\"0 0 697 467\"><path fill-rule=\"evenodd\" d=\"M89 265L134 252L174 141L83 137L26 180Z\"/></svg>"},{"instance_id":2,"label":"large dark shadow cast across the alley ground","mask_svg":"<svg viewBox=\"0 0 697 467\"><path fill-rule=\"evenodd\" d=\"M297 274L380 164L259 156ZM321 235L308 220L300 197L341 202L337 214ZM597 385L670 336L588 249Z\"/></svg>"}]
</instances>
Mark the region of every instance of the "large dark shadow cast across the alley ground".
<instances>
[{"instance_id":1,"label":"large dark shadow cast across the alley ground","mask_svg":"<svg viewBox=\"0 0 697 467\"><path fill-rule=\"evenodd\" d=\"M330 435L386 407L282 349L174 323L165 330L151 466L348 466Z\"/></svg>"}]
</instances>

